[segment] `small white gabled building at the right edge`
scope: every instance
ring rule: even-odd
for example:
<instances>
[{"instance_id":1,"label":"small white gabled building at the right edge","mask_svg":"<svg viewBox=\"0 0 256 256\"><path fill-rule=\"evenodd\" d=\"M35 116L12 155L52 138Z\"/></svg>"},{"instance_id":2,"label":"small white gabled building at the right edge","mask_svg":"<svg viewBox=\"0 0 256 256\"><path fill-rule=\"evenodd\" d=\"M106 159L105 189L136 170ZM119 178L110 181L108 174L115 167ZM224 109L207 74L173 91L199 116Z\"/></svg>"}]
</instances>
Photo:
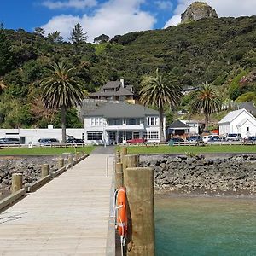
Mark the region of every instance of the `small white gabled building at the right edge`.
<instances>
[{"instance_id":1,"label":"small white gabled building at the right edge","mask_svg":"<svg viewBox=\"0 0 256 256\"><path fill-rule=\"evenodd\" d=\"M219 135L240 133L242 138L256 136L256 118L245 108L228 113L218 125Z\"/></svg>"}]
</instances>

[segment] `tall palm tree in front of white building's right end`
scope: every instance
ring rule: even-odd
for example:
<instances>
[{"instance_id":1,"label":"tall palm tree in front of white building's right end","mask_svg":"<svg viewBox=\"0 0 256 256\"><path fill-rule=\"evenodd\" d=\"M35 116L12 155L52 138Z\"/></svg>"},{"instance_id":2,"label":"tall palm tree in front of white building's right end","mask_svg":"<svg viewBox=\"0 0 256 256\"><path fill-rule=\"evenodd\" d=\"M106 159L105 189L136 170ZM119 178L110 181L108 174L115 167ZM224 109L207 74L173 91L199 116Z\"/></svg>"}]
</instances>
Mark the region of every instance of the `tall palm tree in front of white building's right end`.
<instances>
[{"instance_id":1,"label":"tall palm tree in front of white building's right end","mask_svg":"<svg viewBox=\"0 0 256 256\"><path fill-rule=\"evenodd\" d=\"M164 108L177 106L182 93L181 87L167 73L160 73L156 69L155 75L145 75L142 79L143 88L140 90L140 101L144 105L152 105L159 109L160 113L160 141L165 141L163 131Z\"/></svg>"}]
</instances>

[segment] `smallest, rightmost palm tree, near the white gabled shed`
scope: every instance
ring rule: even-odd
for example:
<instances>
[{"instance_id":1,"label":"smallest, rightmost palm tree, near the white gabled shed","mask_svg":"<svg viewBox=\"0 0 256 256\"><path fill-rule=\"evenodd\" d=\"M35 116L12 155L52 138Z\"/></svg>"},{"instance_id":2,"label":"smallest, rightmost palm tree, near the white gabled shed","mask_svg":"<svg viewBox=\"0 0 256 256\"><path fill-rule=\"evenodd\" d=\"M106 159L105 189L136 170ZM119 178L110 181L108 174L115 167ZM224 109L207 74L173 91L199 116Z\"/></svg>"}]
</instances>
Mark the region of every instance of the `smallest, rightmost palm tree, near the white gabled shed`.
<instances>
[{"instance_id":1,"label":"smallest, rightmost palm tree, near the white gabled shed","mask_svg":"<svg viewBox=\"0 0 256 256\"><path fill-rule=\"evenodd\" d=\"M191 112L203 112L205 115L205 129L208 128L211 113L221 110L221 100L211 84L207 82L201 85L199 90L192 94Z\"/></svg>"}]
</instances>

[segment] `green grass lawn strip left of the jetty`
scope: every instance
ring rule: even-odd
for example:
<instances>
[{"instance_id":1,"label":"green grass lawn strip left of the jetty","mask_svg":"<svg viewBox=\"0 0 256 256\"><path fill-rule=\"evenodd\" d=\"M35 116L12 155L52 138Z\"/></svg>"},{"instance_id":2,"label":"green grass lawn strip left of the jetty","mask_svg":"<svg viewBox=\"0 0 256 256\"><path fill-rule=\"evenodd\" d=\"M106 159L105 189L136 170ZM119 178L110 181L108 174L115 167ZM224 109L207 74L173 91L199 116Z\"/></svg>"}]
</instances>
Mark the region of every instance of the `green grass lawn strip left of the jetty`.
<instances>
[{"instance_id":1,"label":"green grass lawn strip left of the jetty","mask_svg":"<svg viewBox=\"0 0 256 256\"><path fill-rule=\"evenodd\" d=\"M84 151L86 154L94 149L94 146L85 146L79 148L54 148L54 147L41 147L41 148L1 148L0 155L39 155L39 154L63 154L75 153L75 151Z\"/></svg>"}]
</instances>

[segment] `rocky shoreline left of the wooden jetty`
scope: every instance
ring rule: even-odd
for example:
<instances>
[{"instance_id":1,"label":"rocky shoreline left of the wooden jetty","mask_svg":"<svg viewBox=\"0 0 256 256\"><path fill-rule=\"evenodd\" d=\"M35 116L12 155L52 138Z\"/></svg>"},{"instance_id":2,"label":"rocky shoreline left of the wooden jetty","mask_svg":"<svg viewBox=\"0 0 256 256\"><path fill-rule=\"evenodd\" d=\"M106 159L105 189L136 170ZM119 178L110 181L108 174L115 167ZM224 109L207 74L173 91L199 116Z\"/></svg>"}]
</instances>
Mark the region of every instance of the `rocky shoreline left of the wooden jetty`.
<instances>
[{"instance_id":1,"label":"rocky shoreline left of the wooden jetty","mask_svg":"<svg viewBox=\"0 0 256 256\"><path fill-rule=\"evenodd\" d=\"M57 170L58 156L1 157L0 200L10 195L13 173L23 174L23 185L34 183L41 175L41 166L49 164L49 170Z\"/></svg>"}]
</instances>

